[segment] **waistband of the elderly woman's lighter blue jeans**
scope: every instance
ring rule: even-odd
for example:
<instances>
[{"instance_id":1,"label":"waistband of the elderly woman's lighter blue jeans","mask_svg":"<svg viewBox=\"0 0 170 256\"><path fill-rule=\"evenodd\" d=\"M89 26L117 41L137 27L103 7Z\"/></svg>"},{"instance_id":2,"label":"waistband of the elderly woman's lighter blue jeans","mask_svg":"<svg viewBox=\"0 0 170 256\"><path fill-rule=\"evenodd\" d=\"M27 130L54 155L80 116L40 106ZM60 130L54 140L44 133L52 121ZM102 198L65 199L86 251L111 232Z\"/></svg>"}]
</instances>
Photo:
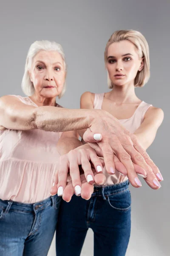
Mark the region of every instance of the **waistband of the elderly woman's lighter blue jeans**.
<instances>
[{"instance_id":1,"label":"waistband of the elderly woman's lighter blue jeans","mask_svg":"<svg viewBox=\"0 0 170 256\"><path fill-rule=\"evenodd\" d=\"M34 212L40 211L48 206L53 206L57 203L57 195L46 198L43 201L39 201L34 204L23 204L20 202L15 202L11 200L1 200L0 199L0 208L8 212L10 210L20 211L20 212Z\"/></svg>"}]
</instances>

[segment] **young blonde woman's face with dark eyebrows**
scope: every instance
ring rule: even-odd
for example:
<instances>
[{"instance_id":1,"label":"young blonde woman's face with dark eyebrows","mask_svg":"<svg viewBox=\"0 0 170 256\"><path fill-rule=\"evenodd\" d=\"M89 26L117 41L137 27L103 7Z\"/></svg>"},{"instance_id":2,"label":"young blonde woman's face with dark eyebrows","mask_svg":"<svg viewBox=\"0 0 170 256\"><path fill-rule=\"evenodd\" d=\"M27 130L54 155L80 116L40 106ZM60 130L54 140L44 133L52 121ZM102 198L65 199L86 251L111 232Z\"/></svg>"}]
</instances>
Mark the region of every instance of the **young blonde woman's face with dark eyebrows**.
<instances>
[{"instance_id":1,"label":"young blonde woman's face with dark eyebrows","mask_svg":"<svg viewBox=\"0 0 170 256\"><path fill-rule=\"evenodd\" d=\"M108 47L106 67L113 84L122 86L134 84L138 71L143 68L143 60L139 58L134 44L124 40Z\"/></svg>"}]
</instances>

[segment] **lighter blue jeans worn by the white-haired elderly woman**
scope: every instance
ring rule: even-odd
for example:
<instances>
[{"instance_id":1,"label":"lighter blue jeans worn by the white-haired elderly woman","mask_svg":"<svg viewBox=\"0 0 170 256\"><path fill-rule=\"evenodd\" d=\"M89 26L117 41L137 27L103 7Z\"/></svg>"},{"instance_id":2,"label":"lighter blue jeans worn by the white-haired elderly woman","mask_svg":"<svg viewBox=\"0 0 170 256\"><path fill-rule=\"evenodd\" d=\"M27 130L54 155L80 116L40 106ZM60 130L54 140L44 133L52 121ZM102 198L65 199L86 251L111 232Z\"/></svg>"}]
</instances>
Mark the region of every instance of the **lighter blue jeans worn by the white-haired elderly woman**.
<instances>
[{"instance_id":1,"label":"lighter blue jeans worn by the white-haired elderly woman","mask_svg":"<svg viewBox=\"0 0 170 256\"><path fill-rule=\"evenodd\" d=\"M60 201L57 195L35 204L0 200L0 256L46 256Z\"/></svg>"}]
</instances>

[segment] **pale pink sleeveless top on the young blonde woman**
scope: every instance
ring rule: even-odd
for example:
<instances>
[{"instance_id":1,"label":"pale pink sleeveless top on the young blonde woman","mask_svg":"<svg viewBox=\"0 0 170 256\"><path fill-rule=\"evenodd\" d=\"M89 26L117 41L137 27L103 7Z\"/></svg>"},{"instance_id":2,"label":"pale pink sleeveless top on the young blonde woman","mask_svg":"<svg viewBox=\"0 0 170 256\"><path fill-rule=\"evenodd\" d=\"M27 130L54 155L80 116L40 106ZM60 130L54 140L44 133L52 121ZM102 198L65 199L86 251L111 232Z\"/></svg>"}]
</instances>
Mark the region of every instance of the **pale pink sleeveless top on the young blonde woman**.
<instances>
[{"instance_id":1,"label":"pale pink sleeveless top on the young blonde woman","mask_svg":"<svg viewBox=\"0 0 170 256\"><path fill-rule=\"evenodd\" d=\"M102 102L104 98L105 93L98 93L94 96L94 109L102 109ZM147 104L146 102L142 101L139 106L136 108L135 113L133 116L131 116L128 119L119 119L119 122L131 133L134 133L139 126L142 124L144 120L144 115L148 108L150 108L150 104ZM127 177L124 177L119 174L119 172L115 172L113 175L109 175L108 172L106 172L106 169L103 170L104 174L106 175L107 179L105 182L105 186L107 185L113 185L116 183L124 182L127 180Z\"/></svg>"}]
</instances>

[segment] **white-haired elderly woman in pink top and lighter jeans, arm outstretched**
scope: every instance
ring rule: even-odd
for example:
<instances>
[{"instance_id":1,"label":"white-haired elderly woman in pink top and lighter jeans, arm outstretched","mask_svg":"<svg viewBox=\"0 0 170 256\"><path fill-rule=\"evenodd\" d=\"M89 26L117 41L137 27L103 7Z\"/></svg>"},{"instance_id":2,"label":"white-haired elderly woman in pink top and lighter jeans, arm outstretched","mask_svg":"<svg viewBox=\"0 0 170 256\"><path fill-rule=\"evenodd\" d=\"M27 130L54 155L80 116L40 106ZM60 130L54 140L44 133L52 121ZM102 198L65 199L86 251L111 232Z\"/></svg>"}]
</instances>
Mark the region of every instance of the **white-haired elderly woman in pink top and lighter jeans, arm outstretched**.
<instances>
[{"instance_id":1,"label":"white-haired elderly woman in pink top and lighter jeans, arm outstretched","mask_svg":"<svg viewBox=\"0 0 170 256\"><path fill-rule=\"evenodd\" d=\"M136 171L148 172L148 180L155 177L149 165L155 170L157 167L136 137L111 114L103 110L60 108L56 97L60 98L65 92L65 77L62 47L55 42L36 41L28 51L22 81L27 96L8 95L0 99L1 256L47 255L60 204L57 195L50 195L50 188L60 154L82 145L76 130L87 129L83 138L94 149L99 148L96 151L104 157L108 173L113 174L118 162L131 171L134 178ZM88 165L83 187L74 166L83 167L91 160L97 173L102 171L102 163L94 149L82 147L83 156L78 162L69 158L71 186L76 195L88 199L93 190L92 169ZM116 160L113 152L118 157ZM92 177L98 184L104 181L100 173ZM153 187L152 182L149 186ZM69 188L68 183L68 191Z\"/></svg>"}]
</instances>

